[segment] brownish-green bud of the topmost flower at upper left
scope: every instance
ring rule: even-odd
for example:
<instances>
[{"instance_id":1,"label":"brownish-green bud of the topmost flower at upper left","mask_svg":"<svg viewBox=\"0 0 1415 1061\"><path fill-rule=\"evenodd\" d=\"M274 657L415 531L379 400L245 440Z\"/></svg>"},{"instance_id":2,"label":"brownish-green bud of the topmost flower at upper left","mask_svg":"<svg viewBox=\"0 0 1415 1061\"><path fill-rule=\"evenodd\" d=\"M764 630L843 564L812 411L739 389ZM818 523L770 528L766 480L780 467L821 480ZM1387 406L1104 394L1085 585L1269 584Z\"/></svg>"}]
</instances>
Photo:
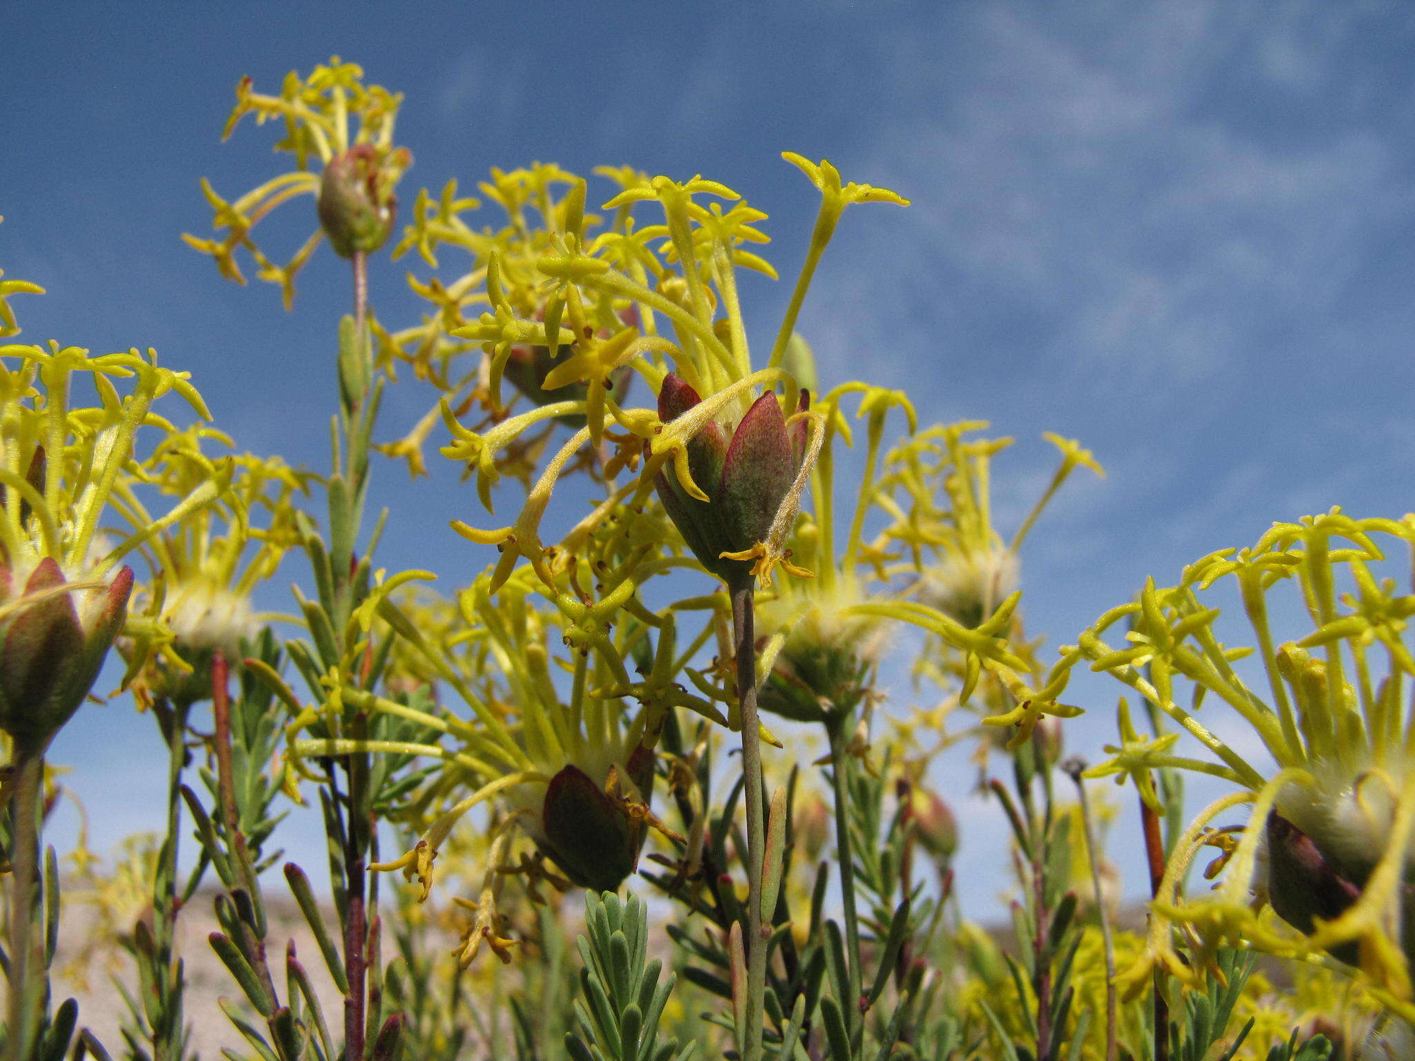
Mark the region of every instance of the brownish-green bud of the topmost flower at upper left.
<instances>
[{"instance_id":1,"label":"brownish-green bud of the topmost flower at upper left","mask_svg":"<svg viewBox=\"0 0 1415 1061\"><path fill-rule=\"evenodd\" d=\"M341 257L372 253L388 242L398 218L393 185L408 168L406 149L388 153L354 144L330 158L320 181L320 225Z\"/></svg>"}]
</instances>

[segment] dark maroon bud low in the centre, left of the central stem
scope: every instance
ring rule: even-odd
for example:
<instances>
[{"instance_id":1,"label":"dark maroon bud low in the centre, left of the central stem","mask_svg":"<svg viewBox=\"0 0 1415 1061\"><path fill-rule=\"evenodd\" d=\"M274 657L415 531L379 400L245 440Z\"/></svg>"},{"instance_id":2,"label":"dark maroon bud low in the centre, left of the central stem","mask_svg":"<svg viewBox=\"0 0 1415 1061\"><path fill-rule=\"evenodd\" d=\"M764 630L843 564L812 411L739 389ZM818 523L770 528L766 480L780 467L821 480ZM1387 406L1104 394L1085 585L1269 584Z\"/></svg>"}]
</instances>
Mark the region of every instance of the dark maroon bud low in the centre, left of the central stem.
<instances>
[{"instance_id":1,"label":"dark maroon bud low in the centre, left of the central stem","mask_svg":"<svg viewBox=\"0 0 1415 1061\"><path fill-rule=\"evenodd\" d=\"M654 753L635 748L630 779L648 801L654 784ZM647 802L644 811L647 812ZM647 813L634 815L625 799L600 788L576 765L560 770L545 792L542 836L533 837L572 884L614 891L638 866L648 833Z\"/></svg>"}]
</instances>

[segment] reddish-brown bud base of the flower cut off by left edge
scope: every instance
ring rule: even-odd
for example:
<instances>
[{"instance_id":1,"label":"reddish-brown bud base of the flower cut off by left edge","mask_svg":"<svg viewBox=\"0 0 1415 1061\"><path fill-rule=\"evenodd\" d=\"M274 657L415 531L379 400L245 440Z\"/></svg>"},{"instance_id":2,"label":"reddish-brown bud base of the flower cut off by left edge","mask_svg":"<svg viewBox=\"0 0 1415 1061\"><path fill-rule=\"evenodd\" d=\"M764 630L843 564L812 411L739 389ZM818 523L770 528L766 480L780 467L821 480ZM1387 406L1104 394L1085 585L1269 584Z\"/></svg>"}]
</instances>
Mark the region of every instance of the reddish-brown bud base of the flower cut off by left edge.
<instances>
[{"instance_id":1,"label":"reddish-brown bud base of the flower cut off by left edge","mask_svg":"<svg viewBox=\"0 0 1415 1061\"><path fill-rule=\"evenodd\" d=\"M14 597L0 567L0 729L42 751L89 695L123 625L133 572L123 567L99 590L65 590L59 564L45 557ZM13 608L13 611L11 611Z\"/></svg>"}]
</instances>

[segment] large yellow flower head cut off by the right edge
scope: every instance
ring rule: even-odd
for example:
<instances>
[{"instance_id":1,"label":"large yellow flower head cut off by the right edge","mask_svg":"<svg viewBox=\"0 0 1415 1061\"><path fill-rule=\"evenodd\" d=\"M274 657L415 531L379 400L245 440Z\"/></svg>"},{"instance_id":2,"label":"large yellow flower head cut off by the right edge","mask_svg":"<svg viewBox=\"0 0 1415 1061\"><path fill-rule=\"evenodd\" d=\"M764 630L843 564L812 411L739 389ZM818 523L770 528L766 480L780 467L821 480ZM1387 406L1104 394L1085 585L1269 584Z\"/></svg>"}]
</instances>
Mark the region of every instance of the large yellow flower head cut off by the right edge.
<instances>
[{"instance_id":1,"label":"large yellow flower head cut off by the right edge","mask_svg":"<svg viewBox=\"0 0 1415 1061\"><path fill-rule=\"evenodd\" d=\"M1145 743L1122 712L1122 747L1105 771L1150 767L1203 771L1238 785L1254 804L1223 864L1223 883L1206 900L1165 903L1167 918L1206 946L1244 941L1289 956L1327 951L1357 965L1390 1004L1415 1011L1408 945L1415 908L1401 881L1415 867L1415 771L1405 680L1415 675L1407 617L1415 598L1377 577L1384 540L1409 549L1415 518L1353 519L1340 509L1278 523L1251 549L1211 553L1190 564L1177 586L1148 583L1139 598L1112 608L1063 649L1057 680L1075 662L1112 673L1207 748L1207 758L1176 758L1177 733ZM1237 583L1265 685L1254 688L1232 662L1251 649L1227 648L1214 632L1218 608L1200 593L1223 579ZM1350 590L1343 590L1350 586ZM1315 630L1279 645L1271 598L1293 587ZM1102 634L1128 622L1131 647ZM1145 668L1142 672L1140 668ZM1182 685L1190 692L1182 693ZM1245 755L1196 717L1204 697L1249 726L1276 763L1265 777ZM1124 703L1124 702L1122 702ZM1152 795L1152 794L1150 794ZM1193 857L1176 850L1174 867ZM1296 932L1274 931L1252 910L1271 904Z\"/></svg>"}]
</instances>

